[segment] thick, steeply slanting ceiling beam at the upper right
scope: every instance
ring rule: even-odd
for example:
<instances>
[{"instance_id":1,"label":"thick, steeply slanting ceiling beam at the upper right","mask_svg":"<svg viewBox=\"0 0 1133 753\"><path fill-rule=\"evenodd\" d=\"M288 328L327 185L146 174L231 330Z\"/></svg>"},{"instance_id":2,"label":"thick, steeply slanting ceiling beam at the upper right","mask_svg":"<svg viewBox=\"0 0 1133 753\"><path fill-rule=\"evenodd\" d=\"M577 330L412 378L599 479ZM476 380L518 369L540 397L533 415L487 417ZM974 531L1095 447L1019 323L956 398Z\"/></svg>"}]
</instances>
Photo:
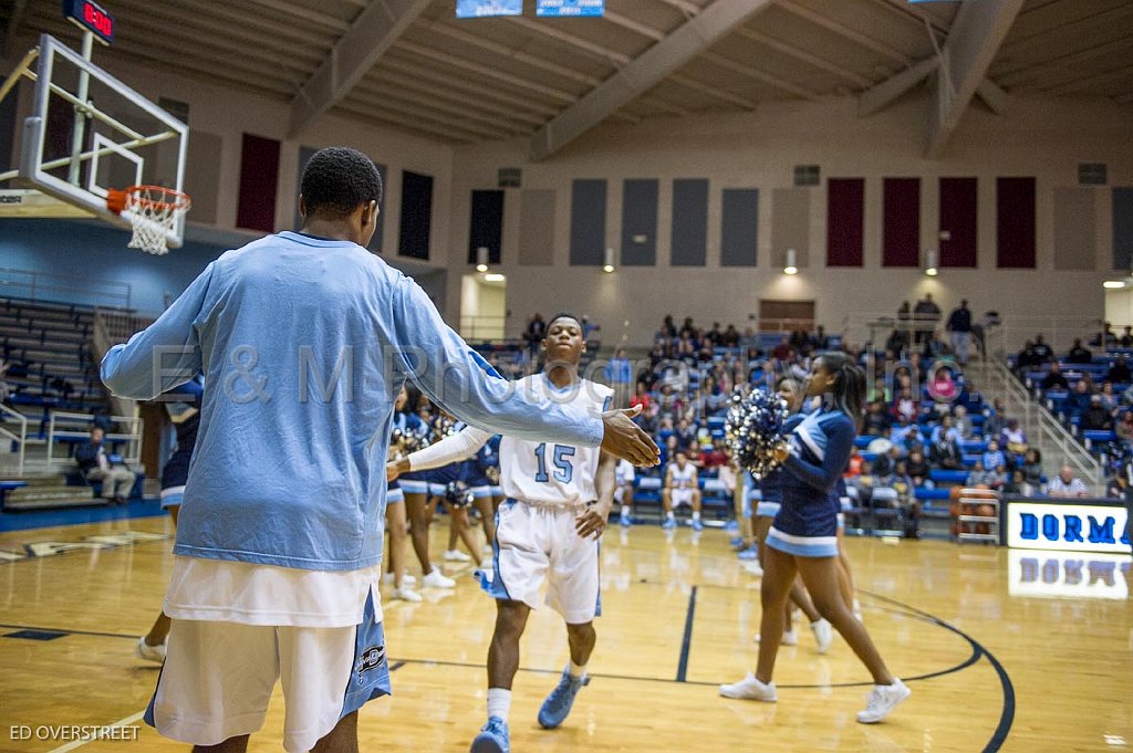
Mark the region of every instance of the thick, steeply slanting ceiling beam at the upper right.
<instances>
[{"instance_id":1,"label":"thick, steeply slanting ceiling beam at the upper right","mask_svg":"<svg viewBox=\"0 0 1133 753\"><path fill-rule=\"evenodd\" d=\"M1022 7L1023 0L960 6L942 52L926 156L935 159L944 151Z\"/></svg>"}]
</instances>

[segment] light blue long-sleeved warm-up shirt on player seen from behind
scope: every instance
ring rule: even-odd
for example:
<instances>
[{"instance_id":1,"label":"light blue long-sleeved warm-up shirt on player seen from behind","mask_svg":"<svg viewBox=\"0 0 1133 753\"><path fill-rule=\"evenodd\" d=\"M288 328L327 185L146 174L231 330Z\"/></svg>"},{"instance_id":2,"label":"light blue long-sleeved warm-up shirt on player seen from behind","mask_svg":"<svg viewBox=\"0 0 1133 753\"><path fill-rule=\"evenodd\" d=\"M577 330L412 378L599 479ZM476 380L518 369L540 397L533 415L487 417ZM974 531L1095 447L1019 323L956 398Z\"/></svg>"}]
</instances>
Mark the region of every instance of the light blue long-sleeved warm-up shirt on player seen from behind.
<instances>
[{"instance_id":1,"label":"light blue long-sleeved warm-up shirt on player seen from behind","mask_svg":"<svg viewBox=\"0 0 1133 753\"><path fill-rule=\"evenodd\" d=\"M203 373L174 554L305 570L382 559L385 460L406 379L488 431L597 446L600 418L520 394L409 277L350 241L282 232L228 251L102 361L152 400Z\"/></svg>"}]
</instances>

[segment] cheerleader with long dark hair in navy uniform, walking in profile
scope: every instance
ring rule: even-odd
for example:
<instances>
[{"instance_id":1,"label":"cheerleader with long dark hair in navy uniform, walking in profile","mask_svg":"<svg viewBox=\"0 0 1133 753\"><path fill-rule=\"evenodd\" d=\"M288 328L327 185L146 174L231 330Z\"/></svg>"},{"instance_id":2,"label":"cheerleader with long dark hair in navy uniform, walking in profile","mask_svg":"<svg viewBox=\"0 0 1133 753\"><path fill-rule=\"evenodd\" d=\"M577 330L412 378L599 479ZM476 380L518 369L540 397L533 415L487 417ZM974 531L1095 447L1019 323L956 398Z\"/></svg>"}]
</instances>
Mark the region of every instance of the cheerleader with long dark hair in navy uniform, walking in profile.
<instances>
[{"instance_id":1,"label":"cheerleader with long dark hair in navy uniform, walking in profile","mask_svg":"<svg viewBox=\"0 0 1133 753\"><path fill-rule=\"evenodd\" d=\"M719 686L725 698L777 700L772 676L783 638L783 610L796 575L802 576L818 611L872 675L874 690L858 721L881 721L909 698L910 690L889 673L838 588L835 487L850 459L864 394L864 374L850 357L824 353L815 360L806 395L821 396L823 407L799 421L776 451L784 470L783 503L767 534L759 662L755 674Z\"/></svg>"}]
</instances>

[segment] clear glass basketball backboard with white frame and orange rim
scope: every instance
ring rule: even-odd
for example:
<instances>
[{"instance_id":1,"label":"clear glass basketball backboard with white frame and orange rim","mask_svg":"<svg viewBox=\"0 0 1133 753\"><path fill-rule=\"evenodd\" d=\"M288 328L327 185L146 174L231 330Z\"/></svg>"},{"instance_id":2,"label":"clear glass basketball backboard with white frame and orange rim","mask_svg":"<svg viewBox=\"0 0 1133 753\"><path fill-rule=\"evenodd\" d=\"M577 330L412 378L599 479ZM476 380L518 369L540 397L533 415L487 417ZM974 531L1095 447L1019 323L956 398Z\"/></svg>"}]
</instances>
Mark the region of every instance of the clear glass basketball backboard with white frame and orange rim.
<instances>
[{"instance_id":1,"label":"clear glass basketball backboard with white frame and orange rim","mask_svg":"<svg viewBox=\"0 0 1133 753\"><path fill-rule=\"evenodd\" d=\"M130 213L108 194L131 186L181 191L188 126L88 59L46 34L0 87L14 95L34 82L18 136L18 168L0 174L0 216L94 216L130 229ZM184 214L165 233L178 247Z\"/></svg>"}]
</instances>

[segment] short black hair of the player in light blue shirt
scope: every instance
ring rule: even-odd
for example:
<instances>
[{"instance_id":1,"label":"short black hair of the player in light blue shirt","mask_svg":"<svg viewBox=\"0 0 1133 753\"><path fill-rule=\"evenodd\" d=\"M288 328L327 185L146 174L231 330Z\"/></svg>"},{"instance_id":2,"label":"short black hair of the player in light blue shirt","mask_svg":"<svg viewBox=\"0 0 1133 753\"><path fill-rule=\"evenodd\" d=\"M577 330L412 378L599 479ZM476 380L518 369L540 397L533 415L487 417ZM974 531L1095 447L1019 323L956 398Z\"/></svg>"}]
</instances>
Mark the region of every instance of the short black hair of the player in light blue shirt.
<instances>
[{"instance_id":1,"label":"short black hair of the player in light blue shirt","mask_svg":"<svg viewBox=\"0 0 1133 753\"><path fill-rule=\"evenodd\" d=\"M300 191L308 216L343 217L370 202L382 203L382 176L358 149L331 146L307 162Z\"/></svg>"}]
</instances>

